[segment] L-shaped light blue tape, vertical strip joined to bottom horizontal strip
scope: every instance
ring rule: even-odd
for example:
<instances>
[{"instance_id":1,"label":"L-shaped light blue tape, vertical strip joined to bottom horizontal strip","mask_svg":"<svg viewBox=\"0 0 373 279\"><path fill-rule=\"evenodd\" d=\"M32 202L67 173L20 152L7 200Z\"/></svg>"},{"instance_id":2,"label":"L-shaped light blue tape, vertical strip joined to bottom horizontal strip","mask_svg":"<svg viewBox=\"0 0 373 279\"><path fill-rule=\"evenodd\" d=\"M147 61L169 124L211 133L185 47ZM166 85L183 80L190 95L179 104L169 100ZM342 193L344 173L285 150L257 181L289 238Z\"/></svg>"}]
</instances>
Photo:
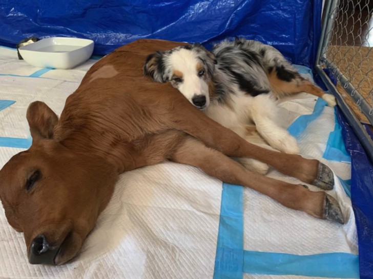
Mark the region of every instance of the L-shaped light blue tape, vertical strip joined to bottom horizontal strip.
<instances>
[{"instance_id":1,"label":"L-shaped light blue tape, vertical strip joined to bottom horizontal strip","mask_svg":"<svg viewBox=\"0 0 373 279\"><path fill-rule=\"evenodd\" d=\"M359 258L350 253L243 250L243 187L223 183L214 279L241 279L243 273L359 278Z\"/></svg>"}]
</instances>

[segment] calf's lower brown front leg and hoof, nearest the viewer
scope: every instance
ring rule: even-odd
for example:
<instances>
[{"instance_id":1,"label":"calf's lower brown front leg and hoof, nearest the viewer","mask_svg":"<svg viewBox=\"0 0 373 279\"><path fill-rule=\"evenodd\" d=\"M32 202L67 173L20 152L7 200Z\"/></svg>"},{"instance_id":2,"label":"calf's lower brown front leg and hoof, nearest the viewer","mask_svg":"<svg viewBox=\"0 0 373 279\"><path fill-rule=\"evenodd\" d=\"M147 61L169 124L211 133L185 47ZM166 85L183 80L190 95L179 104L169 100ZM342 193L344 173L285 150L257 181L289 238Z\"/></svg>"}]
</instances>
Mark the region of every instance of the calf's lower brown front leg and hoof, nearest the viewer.
<instances>
[{"instance_id":1,"label":"calf's lower brown front leg and hoof, nearest the viewer","mask_svg":"<svg viewBox=\"0 0 373 279\"><path fill-rule=\"evenodd\" d=\"M300 184L289 184L250 172L198 139L187 136L171 155L171 160L200 168L224 182L243 185L271 197L282 205L320 219L344 223L338 202L325 192L312 192Z\"/></svg>"}]
</instances>

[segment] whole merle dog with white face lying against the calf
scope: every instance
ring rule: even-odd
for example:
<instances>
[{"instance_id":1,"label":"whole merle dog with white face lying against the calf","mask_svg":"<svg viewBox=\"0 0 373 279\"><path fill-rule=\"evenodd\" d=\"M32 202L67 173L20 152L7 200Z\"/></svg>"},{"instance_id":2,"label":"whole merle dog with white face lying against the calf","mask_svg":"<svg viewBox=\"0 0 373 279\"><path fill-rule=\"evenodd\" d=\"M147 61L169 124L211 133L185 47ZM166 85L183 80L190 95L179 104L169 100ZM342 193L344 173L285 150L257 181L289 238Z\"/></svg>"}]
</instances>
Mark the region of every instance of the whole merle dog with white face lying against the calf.
<instances>
[{"instance_id":1,"label":"whole merle dog with white face lying against the calf","mask_svg":"<svg viewBox=\"0 0 373 279\"><path fill-rule=\"evenodd\" d=\"M276 124L276 99L307 91L335 105L334 97L301 77L275 48L243 38L225 40L211 52L192 44L153 53L144 63L144 74L170 82L209 117L251 142L247 125L254 122L271 147L287 153L299 149L296 139ZM265 172L263 166L253 168Z\"/></svg>"}]
</instances>

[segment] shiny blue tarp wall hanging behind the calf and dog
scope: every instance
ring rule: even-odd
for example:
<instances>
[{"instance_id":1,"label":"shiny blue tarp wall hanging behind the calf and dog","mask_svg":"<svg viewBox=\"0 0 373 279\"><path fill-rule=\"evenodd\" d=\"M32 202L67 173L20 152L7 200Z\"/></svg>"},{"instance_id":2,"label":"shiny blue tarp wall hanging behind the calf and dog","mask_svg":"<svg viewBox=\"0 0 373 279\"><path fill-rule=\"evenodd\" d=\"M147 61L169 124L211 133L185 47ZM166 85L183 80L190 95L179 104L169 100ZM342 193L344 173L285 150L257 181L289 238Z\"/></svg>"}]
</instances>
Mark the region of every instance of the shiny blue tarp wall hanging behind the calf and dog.
<instances>
[{"instance_id":1,"label":"shiny blue tarp wall hanging behind the calf and dog","mask_svg":"<svg viewBox=\"0 0 373 279\"><path fill-rule=\"evenodd\" d=\"M163 0L164 1L164 0ZM36 36L95 41L108 54L139 38L200 42L229 36L270 43L293 63L313 66L321 0L0 0L0 45Z\"/></svg>"}]
</instances>

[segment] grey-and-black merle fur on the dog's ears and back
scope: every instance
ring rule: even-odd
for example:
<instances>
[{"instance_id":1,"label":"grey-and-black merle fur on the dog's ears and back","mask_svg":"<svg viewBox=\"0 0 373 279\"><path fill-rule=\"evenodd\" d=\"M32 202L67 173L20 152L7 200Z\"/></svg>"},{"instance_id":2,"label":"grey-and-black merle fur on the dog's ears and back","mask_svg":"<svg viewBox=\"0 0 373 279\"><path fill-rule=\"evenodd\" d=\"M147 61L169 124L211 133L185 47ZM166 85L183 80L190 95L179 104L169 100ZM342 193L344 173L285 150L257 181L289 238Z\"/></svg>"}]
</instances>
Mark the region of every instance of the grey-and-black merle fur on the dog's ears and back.
<instances>
[{"instance_id":1,"label":"grey-and-black merle fur on the dog's ears and back","mask_svg":"<svg viewBox=\"0 0 373 279\"><path fill-rule=\"evenodd\" d=\"M194 52L205 65L215 85L215 96L212 101L222 102L225 96L235 94L237 90L232 84L253 97L266 94L271 91L267 75L273 71L280 80L286 82L304 80L271 45L243 38L223 41L215 45L211 53L199 43L165 52L158 51L148 56L144 64L144 74L157 82L171 81L172 65L168 58L180 49Z\"/></svg>"}]
</instances>

